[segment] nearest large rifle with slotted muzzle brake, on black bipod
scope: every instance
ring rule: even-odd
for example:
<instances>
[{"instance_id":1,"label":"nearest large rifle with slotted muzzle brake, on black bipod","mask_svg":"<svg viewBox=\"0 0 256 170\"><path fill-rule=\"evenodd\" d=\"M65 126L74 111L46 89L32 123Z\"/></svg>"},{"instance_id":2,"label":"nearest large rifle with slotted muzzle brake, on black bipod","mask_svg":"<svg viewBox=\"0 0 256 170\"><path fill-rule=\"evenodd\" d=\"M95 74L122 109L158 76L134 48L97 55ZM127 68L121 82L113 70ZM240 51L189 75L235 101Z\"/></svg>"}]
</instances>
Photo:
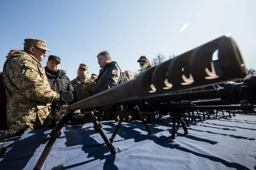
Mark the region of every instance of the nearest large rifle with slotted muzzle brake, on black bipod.
<instances>
[{"instance_id":1,"label":"nearest large rifle with slotted muzzle brake, on black bipod","mask_svg":"<svg viewBox=\"0 0 256 170\"><path fill-rule=\"evenodd\" d=\"M218 50L218 62L222 71L221 75L216 75L212 62L212 54L216 50ZM90 96L72 105L61 107L57 113L58 123L56 124L56 128L52 130L51 139L38 159L35 169L41 169L53 143L60 136L63 125L76 116L77 110L95 108L118 102L140 101L147 97L201 88L227 81L236 81L245 76L245 66L239 49L236 42L228 34L207 42L204 45L140 72L133 80L124 82L114 88ZM152 134L136 104L131 103L126 106L126 110L133 108L137 109L137 113L139 113L143 124L148 130L148 134ZM102 125L97 121L92 111L82 116L91 118L94 128L101 131L100 134L102 136L105 135ZM117 127L120 126L119 123ZM103 139L109 147L110 152L115 154L116 149L111 144L113 138L111 142L105 137Z\"/></svg>"}]
</instances>

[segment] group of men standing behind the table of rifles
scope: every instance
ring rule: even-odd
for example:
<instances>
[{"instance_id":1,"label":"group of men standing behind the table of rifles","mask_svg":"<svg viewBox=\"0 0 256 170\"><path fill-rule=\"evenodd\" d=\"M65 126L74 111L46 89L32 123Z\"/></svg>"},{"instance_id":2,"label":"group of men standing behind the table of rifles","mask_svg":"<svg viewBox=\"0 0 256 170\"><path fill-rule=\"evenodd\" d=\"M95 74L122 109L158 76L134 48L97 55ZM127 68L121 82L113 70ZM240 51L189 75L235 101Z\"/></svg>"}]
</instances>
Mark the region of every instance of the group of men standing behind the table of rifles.
<instances>
[{"instance_id":1,"label":"group of men standing behind the table of rifles","mask_svg":"<svg viewBox=\"0 0 256 170\"><path fill-rule=\"evenodd\" d=\"M10 50L0 73L0 130L32 130L52 125L56 111L55 102L63 91L73 93L69 104L113 88L131 79L131 71L122 72L112 61L108 51L97 55L101 68L99 75L88 77L88 65L81 63L77 77L70 81L66 71L60 70L61 58L50 55L47 65L41 61L47 57L46 41L25 39L23 50ZM141 56L140 71L152 67L149 59ZM81 110L84 113L86 110Z\"/></svg>"}]
</instances>

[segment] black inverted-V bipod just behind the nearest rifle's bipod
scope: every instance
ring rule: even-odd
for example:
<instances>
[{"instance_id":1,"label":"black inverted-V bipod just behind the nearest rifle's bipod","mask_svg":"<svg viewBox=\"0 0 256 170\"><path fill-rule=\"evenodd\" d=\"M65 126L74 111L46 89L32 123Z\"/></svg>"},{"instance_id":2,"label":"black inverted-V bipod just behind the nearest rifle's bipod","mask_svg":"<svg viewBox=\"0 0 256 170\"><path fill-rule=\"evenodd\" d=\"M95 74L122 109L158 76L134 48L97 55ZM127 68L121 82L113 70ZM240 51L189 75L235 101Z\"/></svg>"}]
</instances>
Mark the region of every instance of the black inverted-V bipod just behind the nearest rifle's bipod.
<instances>
[{"instance_id":1,"label":"black inverted-V bipod just behind the nearest rifle's bipod","mask_svg":"<svg viewBox=\"0 0 256 170\"><path fill-rule=\"evenodd\" d=\"M116 125L116 128L111 136L111 138L109 139L111 143L113 143L114 141L114 138L116 137L116 134L119 130L119 127L121 126L122 124L122 121L126 115L126 113L128 111L131 111L132 109L135 109L136 110L136 113L140 116L140 120L143 122L143 125L145 126L146 130L148 131L148 134L147 135L153 135L153 133L151 132L151 130L149 129L147 123L145 122L145 119L143 118L142 114L140 113L140 109L138 108L137 105L133 105L133 104L128 104L126 107L125 107L125 111L122 113L122 116L121 118L119 119L119 122L118 124Z\"/></svg>"}]
</instances>

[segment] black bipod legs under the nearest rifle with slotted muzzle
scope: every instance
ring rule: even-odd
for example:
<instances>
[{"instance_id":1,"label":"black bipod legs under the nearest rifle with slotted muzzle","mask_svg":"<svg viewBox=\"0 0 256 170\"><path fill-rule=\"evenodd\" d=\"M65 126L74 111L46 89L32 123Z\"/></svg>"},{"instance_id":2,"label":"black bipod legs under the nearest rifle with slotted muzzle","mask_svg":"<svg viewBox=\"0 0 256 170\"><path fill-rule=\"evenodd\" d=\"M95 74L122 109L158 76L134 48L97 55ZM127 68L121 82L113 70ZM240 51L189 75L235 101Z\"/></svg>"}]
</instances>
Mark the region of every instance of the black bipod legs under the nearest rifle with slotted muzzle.
<instances>
[{"instance_id":1,"label":"black bipod legs under the nearest rifle with slotted muzzle","mask_svg":"<svg viewBox=\"0 0 256 170\"><path fill-rule=\"evenodd\" d=\"M87 112L85 115L87 115L86 118L89 118L93 122L93 128L95 130L99 131L99 134L102 136L102 139L107 144L111 154L116 154L117 153L116 148L113 147L111 142L108 140L108 137L102 130L102 124L97 121L97 118L94 116L93 112L92 111ZM51 138L49 139L47 145L45 146L45 148L44 148L40 158L38 159L37 163L35 164L35 167L33 170L41 170L41 167L43 166L44 161L46 160L50 150L52 149L53 144L55 143L56 139L61 136L61 133L63 131L62 130L63 126L67 122L69 122L69 120L72 117L73 117L72 114L63 114L61 116L61 119L58 122L56 122L55 129L53 129L52 132L50 133Z\"/></svg>"}]
</instances>

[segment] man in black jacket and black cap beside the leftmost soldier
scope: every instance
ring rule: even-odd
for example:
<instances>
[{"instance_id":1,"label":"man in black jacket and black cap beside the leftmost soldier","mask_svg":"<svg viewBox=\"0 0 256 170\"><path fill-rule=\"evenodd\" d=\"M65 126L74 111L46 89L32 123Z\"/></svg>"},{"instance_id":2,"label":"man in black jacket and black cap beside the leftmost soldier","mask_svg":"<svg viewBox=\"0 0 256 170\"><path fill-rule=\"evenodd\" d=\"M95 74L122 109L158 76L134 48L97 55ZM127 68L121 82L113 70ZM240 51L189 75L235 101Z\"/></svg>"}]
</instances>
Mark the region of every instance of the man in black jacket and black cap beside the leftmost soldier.
<instances>
[{"instance_id":1,"label":"man in black jacket and black cap beside the leftmost soldier","mask_svg":"<svg viewBox=\"0 0 256 170\"><path fill-rule=\"evenodd\" d=\"M58 56L50 55L46 63L45 73L49 80L50 87L52 91L55 91L58 94L61 94L63 91L70 91L74 95L74 88L70 83L70 79L67 77L64 71L59 69L61 64L61 58ZM75 96L75 95L74 95ZM76 99L73 99L71 103L76 102ZM52 105L55 105L53 102ZM52 113L55 113L55 108L52 107Z\"/></svg>"}]
</instances>

